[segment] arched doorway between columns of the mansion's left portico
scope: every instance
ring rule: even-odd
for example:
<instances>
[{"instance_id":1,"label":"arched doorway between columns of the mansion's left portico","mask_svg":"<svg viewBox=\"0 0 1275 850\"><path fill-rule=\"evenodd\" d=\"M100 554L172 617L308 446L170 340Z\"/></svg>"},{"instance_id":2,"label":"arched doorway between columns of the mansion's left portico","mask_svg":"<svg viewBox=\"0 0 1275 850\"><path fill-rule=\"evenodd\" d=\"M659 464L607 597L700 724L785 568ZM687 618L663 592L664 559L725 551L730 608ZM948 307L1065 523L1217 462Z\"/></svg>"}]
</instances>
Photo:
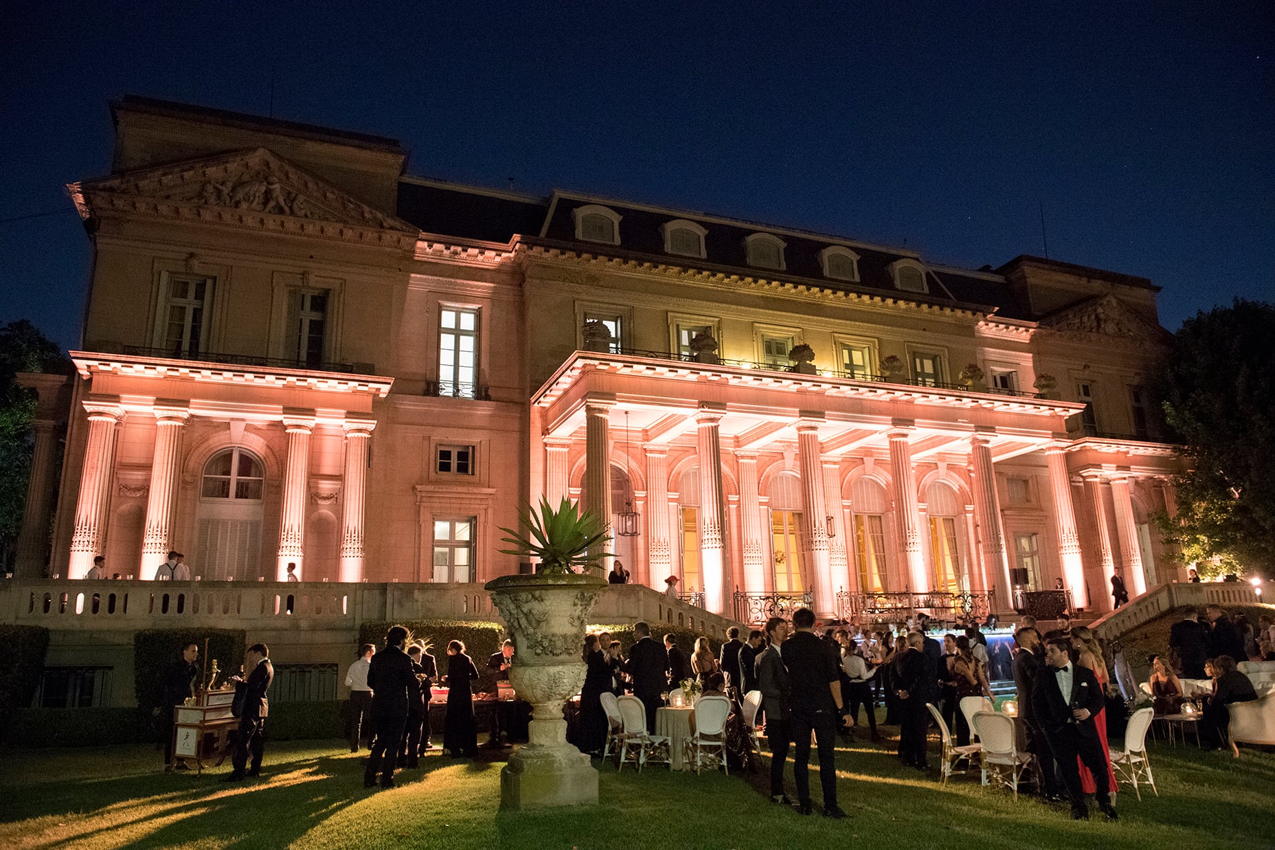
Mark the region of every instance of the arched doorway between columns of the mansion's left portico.
<instances>
[{"instance_id":1,"label":"arched doorway between columns of the mansion's left portico","mask_svg":"<svg viewBox=\"0 0 1275 850\"><path fill-rule=\"evenodd\" d=\"M261 562L265 466L245 448L218 452L204 465L191 572L210 581L256 578Z\"/></svg>"}]
</instances>

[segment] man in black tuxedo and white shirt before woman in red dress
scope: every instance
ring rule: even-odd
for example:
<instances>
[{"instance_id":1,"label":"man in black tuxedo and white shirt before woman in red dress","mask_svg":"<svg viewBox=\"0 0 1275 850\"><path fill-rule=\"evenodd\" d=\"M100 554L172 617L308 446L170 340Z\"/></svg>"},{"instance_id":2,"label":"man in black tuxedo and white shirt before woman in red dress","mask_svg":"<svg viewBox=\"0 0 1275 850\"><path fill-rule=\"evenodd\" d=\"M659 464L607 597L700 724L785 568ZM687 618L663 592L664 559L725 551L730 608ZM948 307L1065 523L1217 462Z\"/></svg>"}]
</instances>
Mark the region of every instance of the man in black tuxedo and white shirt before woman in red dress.
<instances>
[{"instance_id":1,"label":"man in black tuxedo and white shirt before woman in red dress","mask_svg":"<svg viewBox=\"0 0 1275 850\"><path fill-rule=\"evenodd\" d=\"M1107 754L1094 724L1094 715L1105 705L1103 689L1091 670L1072 662L1067 641L1054 638L1046 643L1044 660L1048 666L1040 671L1033 689L1031 710L1044 730L1063 785L1067 786L1071 817L1077 821L1089 819L1089 805L1080 785L1080 764L1076 762L1079 756L1094 775L1098 808L1108 821L1116 821Z\"/></svg>"}]
</instances>

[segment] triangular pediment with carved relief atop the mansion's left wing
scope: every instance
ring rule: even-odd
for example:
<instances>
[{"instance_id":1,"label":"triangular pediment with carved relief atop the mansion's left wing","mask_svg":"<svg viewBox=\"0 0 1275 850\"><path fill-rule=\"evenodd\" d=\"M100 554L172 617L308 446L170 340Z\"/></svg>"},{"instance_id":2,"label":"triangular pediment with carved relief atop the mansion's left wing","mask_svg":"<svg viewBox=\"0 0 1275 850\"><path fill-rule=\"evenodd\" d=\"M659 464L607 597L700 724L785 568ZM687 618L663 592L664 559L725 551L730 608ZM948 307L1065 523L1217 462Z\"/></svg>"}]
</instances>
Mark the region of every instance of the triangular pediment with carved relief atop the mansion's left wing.
<instances>
[{"instance_id":1,"label":"triangular pediment with carved relief atop the mansion's left wing","mask_svg":"<svg viewBox=\"0 0 1275 850\"><path fill-rule=\"evenodd\" d=\"M70 185L80 214L136 212L241 225L302 235L358 237L370 231L395 241L419 230L256 148Z\"/></svg>"}]
</instances>

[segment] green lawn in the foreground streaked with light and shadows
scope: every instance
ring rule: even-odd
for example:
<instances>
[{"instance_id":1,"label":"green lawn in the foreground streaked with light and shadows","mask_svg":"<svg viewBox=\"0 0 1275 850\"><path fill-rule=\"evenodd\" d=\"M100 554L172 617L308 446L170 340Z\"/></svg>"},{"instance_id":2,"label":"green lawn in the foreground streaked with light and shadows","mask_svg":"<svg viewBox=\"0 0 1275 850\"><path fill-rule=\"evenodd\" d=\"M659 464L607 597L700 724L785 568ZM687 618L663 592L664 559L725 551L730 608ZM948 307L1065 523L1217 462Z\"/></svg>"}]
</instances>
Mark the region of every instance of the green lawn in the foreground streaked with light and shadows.
<instances>
[{"instance_id":1,"label":"green lawn in the foreground streaked with light and shadows","mask_svg":"<svg viewBox=\"0 0 1275 850\"><path fill-rule=\"evenodd\" d=\"M932 744L936 747L937 744ZM844 745L836 767L849 818L780 809L752 776L602 768L602 804L500 812L502 762L431 754L399 787L366 791L342 742L268 744L265 776L228 785L227 767L164 775L148 747L0 754L4 847L1270 847L1275 754L1243 757L1153 744L1160 796L1119 794L1119 823L1074 822L1043 805L956 777L946 787L898 764L884 747ZM792 795L789 767L789 794ZM1122 786L1123 789L1123 786Z\"/></svg>"}]
</instances>

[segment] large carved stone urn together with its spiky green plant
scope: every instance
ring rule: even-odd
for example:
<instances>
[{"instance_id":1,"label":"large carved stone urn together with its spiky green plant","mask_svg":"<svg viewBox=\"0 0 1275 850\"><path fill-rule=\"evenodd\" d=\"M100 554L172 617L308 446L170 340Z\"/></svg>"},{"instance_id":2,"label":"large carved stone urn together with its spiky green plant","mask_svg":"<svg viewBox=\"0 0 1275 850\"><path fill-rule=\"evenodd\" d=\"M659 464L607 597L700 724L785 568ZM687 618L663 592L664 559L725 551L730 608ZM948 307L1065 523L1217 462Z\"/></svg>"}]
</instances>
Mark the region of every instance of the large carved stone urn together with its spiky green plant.
<instances>
[{"instance_id":1,"label":"large carved stone urn together with its spiky green plant","mask_svg":"<svg viewBox=\"0 0 1275 850\"><path fill-rule=\"evenodd\" d=\"M607 586L598 562L611 535L597 516L579 513L567 499L556 509L541 499L538 511L523 511L518 531L501 531L513 545L504 554L539 562L533 574L501 576L486 586L514 638L509 679L532 703L529 743L500 772L501 805L595 804L598 771L566 742L562 703L584 683L584 628Z\"/></svg>"}]
</instances>

